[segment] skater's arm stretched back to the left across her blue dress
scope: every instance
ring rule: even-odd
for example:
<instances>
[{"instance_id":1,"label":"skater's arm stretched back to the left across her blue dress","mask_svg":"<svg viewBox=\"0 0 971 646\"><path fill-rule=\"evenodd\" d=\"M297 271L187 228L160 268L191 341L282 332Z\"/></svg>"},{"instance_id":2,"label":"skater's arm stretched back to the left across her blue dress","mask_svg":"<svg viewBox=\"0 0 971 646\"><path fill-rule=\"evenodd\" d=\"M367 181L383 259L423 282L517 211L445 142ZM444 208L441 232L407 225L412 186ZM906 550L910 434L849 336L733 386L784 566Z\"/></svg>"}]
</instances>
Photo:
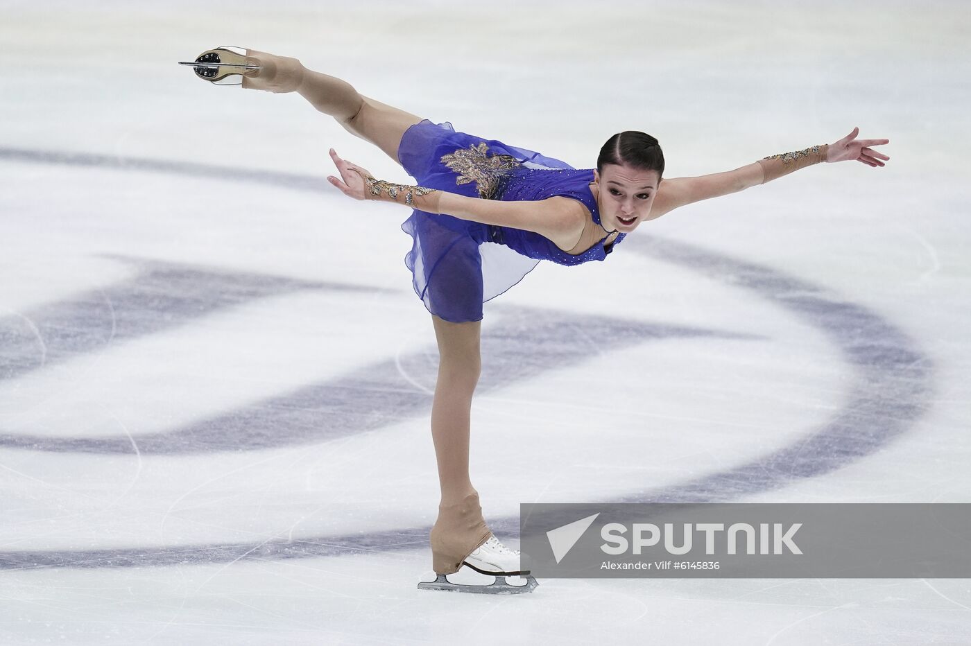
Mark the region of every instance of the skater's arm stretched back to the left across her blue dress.
<instances>
[{"instance_id":1,"label":"skater's arm stretched back to the left across her blue dress","mask_svg":"<svg viewBox=\"0 0 971 646\"><path fill-rule=\"evenodd\" d=\"M341 178L327 179L355 200L379 200L407 205L429 213L446 213L463 220L533 231L551 240L575 232L583 222L579 202L552 197L536 201L500 201L473 198L423 186L403 186L375 179L368 171L341 159L333 148Z\"/></svg>"}]
</instances>

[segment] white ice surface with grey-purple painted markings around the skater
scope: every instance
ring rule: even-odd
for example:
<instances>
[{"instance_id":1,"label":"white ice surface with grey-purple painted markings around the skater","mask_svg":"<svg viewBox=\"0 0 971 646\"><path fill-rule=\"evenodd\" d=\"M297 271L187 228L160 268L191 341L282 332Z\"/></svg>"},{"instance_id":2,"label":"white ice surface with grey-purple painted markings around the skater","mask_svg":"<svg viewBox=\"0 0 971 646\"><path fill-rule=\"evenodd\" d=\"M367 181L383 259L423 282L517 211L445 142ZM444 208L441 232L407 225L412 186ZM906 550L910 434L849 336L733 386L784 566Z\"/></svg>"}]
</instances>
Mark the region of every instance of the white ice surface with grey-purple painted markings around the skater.
<instances>
[{"instance_id":1,"label":"white ice surface with grey-purple painted markings around the skater","mask_svg":"<svg viewBox=\"0 0 971 646\"><path fill-rule=\"evenodd\" d=\"M971 502L966 2L0 0L0 643L967 644L967 579L420 592L437 352L407 176L220 45L592 168L888 138L485 304L472 474L519 503Z\"/></svg>"}]
</instances>

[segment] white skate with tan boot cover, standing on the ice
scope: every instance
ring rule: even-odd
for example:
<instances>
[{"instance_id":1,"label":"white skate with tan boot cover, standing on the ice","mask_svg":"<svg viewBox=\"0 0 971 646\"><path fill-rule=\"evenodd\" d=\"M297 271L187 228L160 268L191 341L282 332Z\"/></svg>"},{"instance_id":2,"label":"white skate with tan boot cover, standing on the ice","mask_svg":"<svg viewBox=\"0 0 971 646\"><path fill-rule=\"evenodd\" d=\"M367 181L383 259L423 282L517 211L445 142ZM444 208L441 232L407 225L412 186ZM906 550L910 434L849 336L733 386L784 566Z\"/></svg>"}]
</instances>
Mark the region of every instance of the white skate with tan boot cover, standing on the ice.
<instances>
[{"instance_id":1,"label":"white skate with tan boot cover, standing on the ice","mask_svg":"<svg viewBox=\"0 0 971 646\"><path fill-rule=\"evenodd\" d=\"M519 568L519 551L509 549L489 532L479 494L470 494L458 504L439 505L431 530L431 553L435 580L422 581L419 590L516 595L532 592L539 585L528 570ZM452 583L446 575L463 565L495 579L490 584ZM523 583L510 583L507 577L518 577Z\"/></svg>"}]
</instances>

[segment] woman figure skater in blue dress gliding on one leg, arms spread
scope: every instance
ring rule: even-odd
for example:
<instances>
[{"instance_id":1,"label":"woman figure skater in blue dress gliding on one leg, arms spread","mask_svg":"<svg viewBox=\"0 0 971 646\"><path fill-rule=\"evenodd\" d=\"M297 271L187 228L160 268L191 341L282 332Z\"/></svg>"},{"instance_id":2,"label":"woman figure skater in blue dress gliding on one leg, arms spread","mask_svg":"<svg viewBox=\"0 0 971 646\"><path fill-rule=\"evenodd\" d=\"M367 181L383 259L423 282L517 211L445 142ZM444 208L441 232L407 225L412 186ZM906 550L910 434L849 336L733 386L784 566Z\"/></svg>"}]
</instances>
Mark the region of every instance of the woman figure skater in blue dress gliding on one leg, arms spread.
<instances>
[{"instance_id":1,"label":"woman figure skater in blue dress gliding on one leg, arms spread","mask_svg":"<svg viewBox=\"0 0 971 646\"><path fill-rule=\"evenodd\" d=\"M733 171L662 179L664 156L657 140L622 132L603 145L596 170L575 170L361 96L348 82L308 70L295 58L217 48L184 64L218 84L241 81L234 84L297 92L418 180L406 186L373 178L330 150L340 177L328 180L345 195L413 209L402 225L414 239L405 262L432 314L440 357L431 412L442 494L430 537L437 579L419 584L425 589L508 594L536 586L528 571L520 570L519 552L489 531L469 477L469 416L482 365L483 302L519 282L540 260L602 261L642 222L693 202L819 162L857 160L878 167L889 159L871 147L889 140L856 140L854 128L834 144L771 155ZM462 565L495 575L495 583L453 584L445 575ZM510 585L506 575L523 575L526 585Z\"/></svg>"}]
</instances>

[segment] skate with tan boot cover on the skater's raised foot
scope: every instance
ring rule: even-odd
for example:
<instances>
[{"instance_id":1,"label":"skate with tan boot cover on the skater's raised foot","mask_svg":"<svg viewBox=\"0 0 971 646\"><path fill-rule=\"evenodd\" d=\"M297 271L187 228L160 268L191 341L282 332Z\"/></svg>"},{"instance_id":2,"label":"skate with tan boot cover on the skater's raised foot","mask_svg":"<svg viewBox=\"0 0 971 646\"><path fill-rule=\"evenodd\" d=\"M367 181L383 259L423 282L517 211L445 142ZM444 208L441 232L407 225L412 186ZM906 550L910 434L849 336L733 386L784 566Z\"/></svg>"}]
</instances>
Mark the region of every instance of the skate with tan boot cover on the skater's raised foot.
<instances>
[{"instance_id":1,"label":"skate with tan boot cover on the skater's raised foot","mask_svg":"<svg viewBox=\"0 0 971 646\"><path fill-rule=\"evenodd\" d=\"M179 64L193 66L195 76L204 81L268 92L292 92L305 72L296 58L229 46L203 51L194 61Z\"/></svg>"}]
</instances>

